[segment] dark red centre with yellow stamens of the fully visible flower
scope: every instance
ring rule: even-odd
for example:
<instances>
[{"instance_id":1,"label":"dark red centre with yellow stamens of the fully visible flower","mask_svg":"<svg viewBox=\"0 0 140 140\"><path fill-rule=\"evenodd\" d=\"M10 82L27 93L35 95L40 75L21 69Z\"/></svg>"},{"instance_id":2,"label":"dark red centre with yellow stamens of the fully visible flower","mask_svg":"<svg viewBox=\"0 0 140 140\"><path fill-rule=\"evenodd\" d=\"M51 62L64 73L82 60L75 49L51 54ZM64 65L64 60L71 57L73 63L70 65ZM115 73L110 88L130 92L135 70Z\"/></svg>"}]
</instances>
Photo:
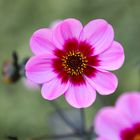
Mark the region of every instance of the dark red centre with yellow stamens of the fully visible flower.
<instances>
[{"instance_id":1,"label":"dark red centre with yellow stamens of the fully visible flower","mask_svg":"<svg viewBox=\"0 0 140 140\"><path fill-rule=\"evenodd\" d=\"M53 59L54 72L62 82L70 81L74 85L84 84L84 75L95 76L96 69L93 66L99 65L98 56L94 56L93 47L85 41L78 42L76 39L65 41L63 50L56 49Z\"/></svg>"}]
</instances>

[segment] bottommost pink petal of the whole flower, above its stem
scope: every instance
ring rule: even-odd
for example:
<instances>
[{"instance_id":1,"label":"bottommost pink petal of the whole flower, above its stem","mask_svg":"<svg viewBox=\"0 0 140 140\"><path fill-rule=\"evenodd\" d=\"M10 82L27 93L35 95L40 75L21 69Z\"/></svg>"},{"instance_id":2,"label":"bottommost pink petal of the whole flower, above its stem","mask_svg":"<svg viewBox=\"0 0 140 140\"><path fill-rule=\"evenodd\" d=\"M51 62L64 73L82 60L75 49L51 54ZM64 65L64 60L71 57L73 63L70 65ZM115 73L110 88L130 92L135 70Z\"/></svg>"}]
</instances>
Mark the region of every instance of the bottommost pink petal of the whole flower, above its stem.
<instances>
[{"instance_id":1,"label":"bottommost pink petal of the whole flower, above its stem","mask_svg":"<svg viewBox=\"0 0 140 140\"><path fill-rule=\"evenodd\" d=\"M75 108L86 108L96 99L95 90L88 84L71 86L65 93L67 102Z\"/></svg>"}]
</instances>

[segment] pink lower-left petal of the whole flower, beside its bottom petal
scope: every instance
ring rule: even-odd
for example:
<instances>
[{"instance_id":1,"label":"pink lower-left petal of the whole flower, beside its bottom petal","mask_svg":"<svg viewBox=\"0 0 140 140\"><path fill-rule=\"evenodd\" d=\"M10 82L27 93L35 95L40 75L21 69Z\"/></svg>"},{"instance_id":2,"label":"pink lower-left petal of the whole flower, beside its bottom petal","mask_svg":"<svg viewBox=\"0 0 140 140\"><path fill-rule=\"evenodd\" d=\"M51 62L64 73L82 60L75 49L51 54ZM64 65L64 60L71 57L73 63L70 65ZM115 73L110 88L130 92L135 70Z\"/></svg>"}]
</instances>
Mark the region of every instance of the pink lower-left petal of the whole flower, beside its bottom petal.
<instances>
[{"instance_id":1,"label":"pink lower-left petal of the whole flower, beside its bottom petal","mask_svg":"<svg viewBox=\"0 0 140 140\"><path fill-rule=\"evenodd\" d=\"M47 100L54 100L64 94L69 87L69 82L61 83L57 78L51 80L48 83L43 84L42 86L42 96Z\"/></svg>"}]
</instances>

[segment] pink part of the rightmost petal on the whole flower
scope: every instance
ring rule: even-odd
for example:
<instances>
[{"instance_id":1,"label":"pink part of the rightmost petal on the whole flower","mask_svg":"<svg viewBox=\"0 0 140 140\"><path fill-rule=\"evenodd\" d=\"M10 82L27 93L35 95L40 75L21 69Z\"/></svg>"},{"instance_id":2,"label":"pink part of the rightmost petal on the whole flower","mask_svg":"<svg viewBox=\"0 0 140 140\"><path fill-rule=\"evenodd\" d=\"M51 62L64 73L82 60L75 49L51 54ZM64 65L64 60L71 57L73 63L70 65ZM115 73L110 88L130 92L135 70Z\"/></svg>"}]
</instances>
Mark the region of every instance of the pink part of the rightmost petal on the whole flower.
<instances>
[{"instance_id":1,"label":"pink part of the rightmost petal on the whole flower","mask_svg":"<svg viewBox=\"0 0 140 140\"><path fill-rule=\"evenodd\" d=\"M99 54L98 60L100 61L98 68L106 70L120 68L124 62L124 50L121 44L114 41L111 47Z\"/></svg>"}]
</instances>

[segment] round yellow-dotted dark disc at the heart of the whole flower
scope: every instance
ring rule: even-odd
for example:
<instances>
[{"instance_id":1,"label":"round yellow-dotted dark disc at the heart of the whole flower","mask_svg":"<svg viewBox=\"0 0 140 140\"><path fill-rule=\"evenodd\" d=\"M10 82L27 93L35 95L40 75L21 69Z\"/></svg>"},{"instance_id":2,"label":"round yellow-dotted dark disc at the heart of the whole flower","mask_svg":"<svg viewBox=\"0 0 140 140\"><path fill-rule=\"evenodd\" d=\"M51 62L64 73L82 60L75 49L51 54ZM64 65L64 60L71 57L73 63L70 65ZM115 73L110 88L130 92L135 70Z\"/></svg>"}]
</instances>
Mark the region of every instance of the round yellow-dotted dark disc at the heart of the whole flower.
<instances>
[{"instance_id":1,"label":"round yellow-dotted dark disc at the heart of the whole flower","mask_svg":"<svg viewBox=\"0 0 140 140\"><path fill-rule=\"evenodd\" d=\"M87 67L87 58L81 52L70 51L62 58L62 66L70 75L80 75Z\"/></svg>"}]
</instances>

